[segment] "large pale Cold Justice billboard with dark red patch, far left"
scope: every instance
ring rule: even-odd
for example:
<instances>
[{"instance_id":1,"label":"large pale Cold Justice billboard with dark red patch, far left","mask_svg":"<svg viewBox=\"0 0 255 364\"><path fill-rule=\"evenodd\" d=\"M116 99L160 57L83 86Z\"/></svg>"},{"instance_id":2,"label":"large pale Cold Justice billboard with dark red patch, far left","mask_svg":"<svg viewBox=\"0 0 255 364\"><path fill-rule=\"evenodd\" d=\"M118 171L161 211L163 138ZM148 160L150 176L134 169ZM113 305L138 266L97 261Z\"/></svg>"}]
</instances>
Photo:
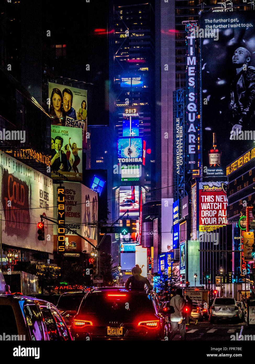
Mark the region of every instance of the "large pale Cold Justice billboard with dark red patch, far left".
<instances>
[{"instance_id":1,"label":"large pale Cold Justice billboard with dark red patch, far left","mask_svg":"<svg viewBox=\"0 0 255 364\"><path fill-rule=\"evenodd\" d=\"M53 218L52 179L1 152L0 181L3 244L52 253L52 223L44 222L45 240L37 239L40 215Z\"/></svg>"}]
</instances>

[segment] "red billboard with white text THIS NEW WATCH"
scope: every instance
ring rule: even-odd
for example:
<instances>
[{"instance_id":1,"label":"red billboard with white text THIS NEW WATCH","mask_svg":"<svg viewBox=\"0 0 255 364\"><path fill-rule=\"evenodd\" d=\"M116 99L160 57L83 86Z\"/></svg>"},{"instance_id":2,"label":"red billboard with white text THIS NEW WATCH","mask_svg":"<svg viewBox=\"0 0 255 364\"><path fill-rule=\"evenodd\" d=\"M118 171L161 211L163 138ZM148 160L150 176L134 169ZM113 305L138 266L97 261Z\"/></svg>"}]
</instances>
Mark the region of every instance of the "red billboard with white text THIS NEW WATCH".
<instances>
[{"instance_id":1,"label":"red billboard with white text THIS NEW WATCH","mask_svg":"<svg viewBox=\"0 0 255 364\"><path fill-rule=\"evenodd\" d=\"M199 231L227 225L227 182L199 183Z\"/></svg>"}]
</instances>

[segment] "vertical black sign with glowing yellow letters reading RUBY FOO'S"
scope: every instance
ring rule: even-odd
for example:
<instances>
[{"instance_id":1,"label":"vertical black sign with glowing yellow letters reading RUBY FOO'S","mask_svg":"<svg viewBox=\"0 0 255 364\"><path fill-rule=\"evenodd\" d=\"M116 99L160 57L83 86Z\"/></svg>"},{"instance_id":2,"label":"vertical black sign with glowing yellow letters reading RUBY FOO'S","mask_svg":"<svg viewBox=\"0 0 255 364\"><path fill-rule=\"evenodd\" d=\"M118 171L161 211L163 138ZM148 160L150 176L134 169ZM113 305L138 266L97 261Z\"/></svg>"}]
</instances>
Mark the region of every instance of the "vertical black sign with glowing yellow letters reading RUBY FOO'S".
<instances>
[{"instance_id":1,"label":"vertical black sign with glowing yellow letters reading RUBY FOO'S","mask_svg":"<svg viewBox=\"0 0 255 364\"><path fill-rule=\"evenodd\" d=\"M65 189L57 187L57 223L65 225ZM65 228L57 226L57 252L65 252Z\"/></svg>"}]
</instances>

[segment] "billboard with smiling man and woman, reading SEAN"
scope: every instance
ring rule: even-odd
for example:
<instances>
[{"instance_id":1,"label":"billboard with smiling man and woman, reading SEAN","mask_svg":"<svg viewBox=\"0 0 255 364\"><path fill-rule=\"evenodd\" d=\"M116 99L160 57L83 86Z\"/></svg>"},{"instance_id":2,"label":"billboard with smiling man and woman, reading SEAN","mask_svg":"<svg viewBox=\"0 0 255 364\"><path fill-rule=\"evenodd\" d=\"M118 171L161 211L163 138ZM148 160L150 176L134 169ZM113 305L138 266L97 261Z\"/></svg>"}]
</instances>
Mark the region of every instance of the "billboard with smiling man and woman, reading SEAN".
<instances>
[{"instance_id":1,"label":"billboard with smiling man and woman, reading SEAN","mask_svg":"<svg viewBox=\"0 0 255 364\"><path fill-rule=\"evenodd\" d=\"M49 82L49 116L53 125L81 128L87 148L87 90Z\"/></svg>"}]
</instances>

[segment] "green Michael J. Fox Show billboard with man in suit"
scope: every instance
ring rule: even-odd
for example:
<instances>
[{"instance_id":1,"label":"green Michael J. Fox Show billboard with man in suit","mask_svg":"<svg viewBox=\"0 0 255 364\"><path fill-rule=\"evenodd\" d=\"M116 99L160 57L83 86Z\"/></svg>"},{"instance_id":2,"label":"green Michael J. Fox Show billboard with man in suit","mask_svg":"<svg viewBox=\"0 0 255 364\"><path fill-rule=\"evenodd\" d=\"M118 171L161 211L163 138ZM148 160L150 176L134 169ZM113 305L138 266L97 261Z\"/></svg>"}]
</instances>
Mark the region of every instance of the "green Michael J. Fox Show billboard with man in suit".
<instances>
[{"instance_id":1,"label":"green Michael J. Fox Show billboard with man in suit","mask_svg":"<svg viewBox=\"0 0 255 364\"><path fill-rule=\"evenodd\" d=\"M80 128L51 125L51 178L82 181Z\"/></svg>"}]
</instances>

